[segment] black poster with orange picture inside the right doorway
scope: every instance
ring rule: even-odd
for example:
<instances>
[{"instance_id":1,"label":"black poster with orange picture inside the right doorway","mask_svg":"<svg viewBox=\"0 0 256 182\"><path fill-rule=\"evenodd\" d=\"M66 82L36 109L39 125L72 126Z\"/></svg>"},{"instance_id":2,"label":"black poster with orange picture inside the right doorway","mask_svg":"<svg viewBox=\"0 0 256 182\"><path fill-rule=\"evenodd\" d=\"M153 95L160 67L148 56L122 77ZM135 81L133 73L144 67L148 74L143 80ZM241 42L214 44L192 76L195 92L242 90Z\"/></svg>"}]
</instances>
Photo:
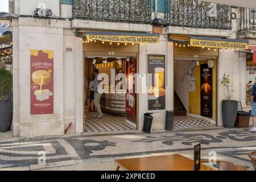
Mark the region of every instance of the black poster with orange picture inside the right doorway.
<instances>
[{"instance_id":1,"label":"black poster with orange picture inside the right doorway","mask_svg":"<svg viewBox=\"0 0 256 182\"><path fill-rule=\"evenodd\" d=\"M212 68L201 64L201 115L212 118Z\"/></svg>"}]
</instances>

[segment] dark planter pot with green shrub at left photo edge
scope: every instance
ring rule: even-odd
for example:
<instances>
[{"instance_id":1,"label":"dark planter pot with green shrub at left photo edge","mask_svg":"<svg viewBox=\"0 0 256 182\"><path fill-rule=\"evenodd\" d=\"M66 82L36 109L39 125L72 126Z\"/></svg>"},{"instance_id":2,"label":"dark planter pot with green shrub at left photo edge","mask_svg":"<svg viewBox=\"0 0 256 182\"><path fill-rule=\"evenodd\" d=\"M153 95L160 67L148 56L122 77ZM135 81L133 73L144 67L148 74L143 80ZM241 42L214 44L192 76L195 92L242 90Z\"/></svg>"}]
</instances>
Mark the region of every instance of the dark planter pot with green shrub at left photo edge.
<instances>
[{"instance_id":1,"label":"dark planter pot with green shrub at left photo edge","mask_svg":"<svg viewBox=\"0 0 256 182\"><path fill-rule=\"evenodd\" d=\"M13 121L13 101L0 101L0 131L11 130Z\"/></svg>"}]
</instances>

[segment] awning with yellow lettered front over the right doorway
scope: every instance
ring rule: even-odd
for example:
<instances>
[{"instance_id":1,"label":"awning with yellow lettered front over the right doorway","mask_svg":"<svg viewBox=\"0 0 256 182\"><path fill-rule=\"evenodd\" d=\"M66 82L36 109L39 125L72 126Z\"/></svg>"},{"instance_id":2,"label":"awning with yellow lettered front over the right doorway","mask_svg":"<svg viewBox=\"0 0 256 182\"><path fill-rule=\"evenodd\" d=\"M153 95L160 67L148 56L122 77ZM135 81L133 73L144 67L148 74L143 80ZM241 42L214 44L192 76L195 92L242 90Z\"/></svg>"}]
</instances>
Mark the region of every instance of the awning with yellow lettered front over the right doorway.
<instances>
[{"instance_id":1,"label":"awning with yellow lettered front over the right doorway","mask_svg":"<svg viewBox=\"0 0 256 182\"><path fill-rule=\"evenodd\" d=\"M245 39L222 39L202 36L190 36L190 46L228 49L248 49L249 42Z\"/></svg>"}]
</instances>

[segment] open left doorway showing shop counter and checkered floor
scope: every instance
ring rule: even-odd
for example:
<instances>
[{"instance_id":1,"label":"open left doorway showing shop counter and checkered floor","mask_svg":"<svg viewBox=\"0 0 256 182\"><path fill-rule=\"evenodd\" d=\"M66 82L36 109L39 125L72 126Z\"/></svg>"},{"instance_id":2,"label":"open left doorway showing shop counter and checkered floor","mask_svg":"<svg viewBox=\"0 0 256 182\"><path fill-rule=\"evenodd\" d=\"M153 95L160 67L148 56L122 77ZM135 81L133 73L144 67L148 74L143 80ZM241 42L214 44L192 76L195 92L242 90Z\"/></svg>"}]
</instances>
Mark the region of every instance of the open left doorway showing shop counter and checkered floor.
<instances>
[{"instance_id":1,"label":"open left doorway showing shop counter and checkered floor","mask_svg":"<svg viewBox=\"0 0 256 182\"><path fill-rule=\"evenodd\" d=\"M103 113L102 118L95 118L98 113L93 98L93 75L95 69L98 70L99 74L104 73L109 79L108 85L104 86L104 90L108 90L108 92L104 92L100 96L100 109ZM135 94L135 85L130 87L134 89L134 92L129 94L128 90L125 90L126 87L124 88L122 82L120 82L123 78L118 77L122 75L126 76L128 85L129 74L135 73L137 73L136 56L85 56L85 132L136 129L137 94ZM114 88L114 92L111 88ZM126 92L123 92L124 90Z\"/></svg>"}]
</instances>

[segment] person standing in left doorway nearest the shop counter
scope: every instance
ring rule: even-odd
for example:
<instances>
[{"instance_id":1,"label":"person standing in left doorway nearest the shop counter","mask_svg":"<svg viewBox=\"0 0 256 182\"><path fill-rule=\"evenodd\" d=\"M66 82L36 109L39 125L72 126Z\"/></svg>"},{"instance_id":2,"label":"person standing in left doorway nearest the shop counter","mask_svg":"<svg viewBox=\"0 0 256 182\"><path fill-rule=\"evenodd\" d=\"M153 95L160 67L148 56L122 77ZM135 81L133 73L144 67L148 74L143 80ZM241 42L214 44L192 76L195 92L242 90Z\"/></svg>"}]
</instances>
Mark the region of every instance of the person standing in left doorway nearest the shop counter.
<instances>
[{"instance_id":1,"label":"person standing in left doorway nearest the shop counter","mask_svg":"<svg viewBox=\"0 0 256 182\"><path fill-rule=\"evenodd\" d=\"M99 71L98 69L94 69L94 80L93 80L93 90L94 90L94 105L97 109L97 114L94 116L94 118L100 119L103 117L102 111L101 111L101 105L100 105L100 100L101 100L101 93L98 92L98 84L100 84L101 81L98 80L98 74Z\"/></svg>"}]
</instances>

